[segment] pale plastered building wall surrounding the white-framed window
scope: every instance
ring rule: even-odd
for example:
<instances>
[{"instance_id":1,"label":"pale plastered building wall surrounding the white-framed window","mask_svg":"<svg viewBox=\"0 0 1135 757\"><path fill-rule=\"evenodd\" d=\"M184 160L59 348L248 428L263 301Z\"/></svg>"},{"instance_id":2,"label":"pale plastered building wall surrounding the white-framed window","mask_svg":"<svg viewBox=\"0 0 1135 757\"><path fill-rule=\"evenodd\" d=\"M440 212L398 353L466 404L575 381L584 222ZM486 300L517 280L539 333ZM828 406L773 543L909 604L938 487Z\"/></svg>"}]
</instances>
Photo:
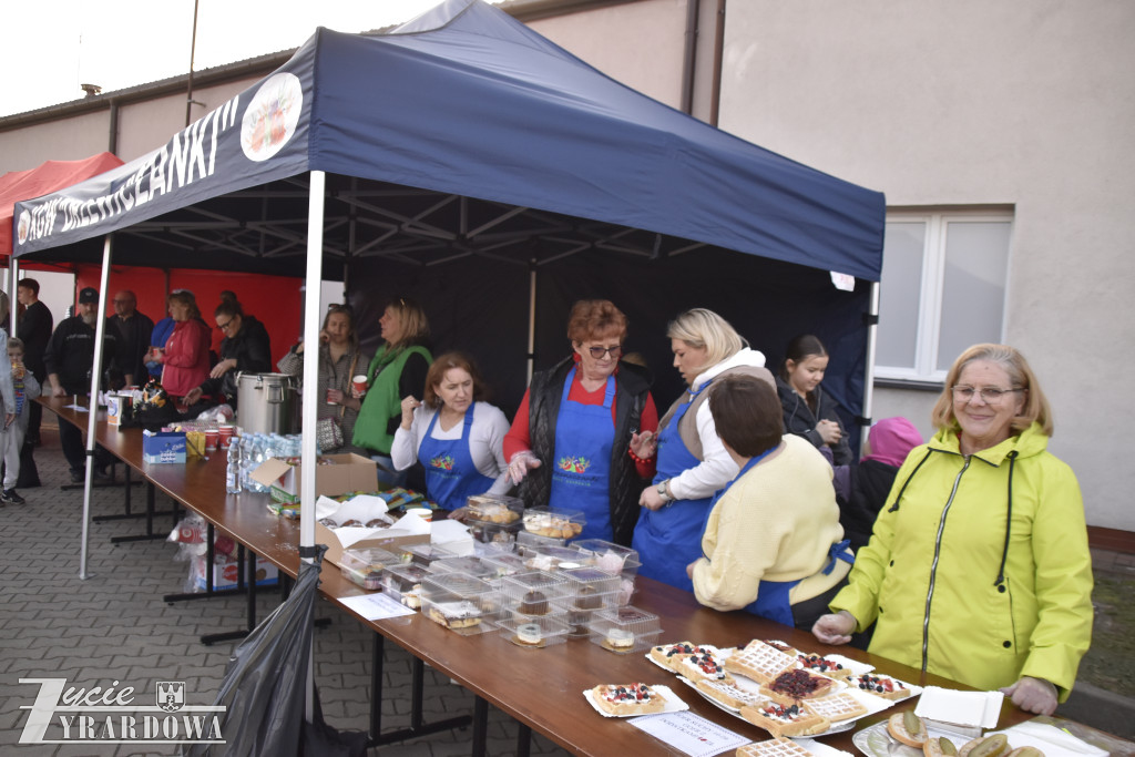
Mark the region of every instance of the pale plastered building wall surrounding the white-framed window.
<instances>
[{"instance_id":1,"label":"pale plastered building wall surrounding the white-framed window","mask_svg":"<svg viewBox=\"0 0 1135 757\"><path fill-rule=\"evenodd\" d=\"M722 128L889 207L1015 208L1004 340L1052 403L1088 522L1126 530L1133 39L1126 0L734 0L721 104ZM880 392L873 414L928 430L933 401Z\"/></svg>"}]
</instances>

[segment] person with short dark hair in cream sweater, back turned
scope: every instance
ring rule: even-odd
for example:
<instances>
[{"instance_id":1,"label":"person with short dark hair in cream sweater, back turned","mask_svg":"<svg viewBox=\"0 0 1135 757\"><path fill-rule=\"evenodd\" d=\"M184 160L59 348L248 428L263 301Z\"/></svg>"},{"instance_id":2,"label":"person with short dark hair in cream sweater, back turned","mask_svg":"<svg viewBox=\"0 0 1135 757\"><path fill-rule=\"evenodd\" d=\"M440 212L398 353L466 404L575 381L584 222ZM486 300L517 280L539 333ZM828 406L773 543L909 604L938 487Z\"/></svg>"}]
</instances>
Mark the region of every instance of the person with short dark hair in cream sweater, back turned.
<instances>
[{"instance_id":1,"label":"person with short dark hair in cream sweater, back turned","mask_svg":"<svg viewBox=\"0 0 1135 757\"><path fill-rule=\"evenodd\" d=\"M729 376L709 410L740 472L715 499L703 556L689 564L698 602L810 629L855 562L831 465L808 441L782 437L780 399L766 381Z\"/></svg>"}]
</instances>

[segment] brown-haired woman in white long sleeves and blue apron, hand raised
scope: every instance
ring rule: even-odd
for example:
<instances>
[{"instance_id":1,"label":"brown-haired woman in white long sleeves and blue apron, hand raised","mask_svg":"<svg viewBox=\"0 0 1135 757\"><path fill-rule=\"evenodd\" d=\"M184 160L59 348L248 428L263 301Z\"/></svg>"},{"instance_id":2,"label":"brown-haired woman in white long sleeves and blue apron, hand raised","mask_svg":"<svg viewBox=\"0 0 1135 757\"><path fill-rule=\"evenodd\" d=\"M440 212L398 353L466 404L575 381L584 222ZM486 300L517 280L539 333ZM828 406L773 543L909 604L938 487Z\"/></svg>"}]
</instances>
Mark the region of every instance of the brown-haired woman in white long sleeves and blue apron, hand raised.
<instances>
[{"instance_id":1,"label":"brown-haired woman in white long sleeves and blue apron, hand raised","mask_svg":"<svg viewBox=\"0 0 1135 757\"><path fill-rule=\"evenodd\" d=\"M422 401L402 399L390 459L400 471L420 462L426 496L443 510L464 507L473 495L508 490L502 448L508 421L497 407L479 402L484 394L472 359L448 352L430 365Z\"/></svg>"}]
</instances>

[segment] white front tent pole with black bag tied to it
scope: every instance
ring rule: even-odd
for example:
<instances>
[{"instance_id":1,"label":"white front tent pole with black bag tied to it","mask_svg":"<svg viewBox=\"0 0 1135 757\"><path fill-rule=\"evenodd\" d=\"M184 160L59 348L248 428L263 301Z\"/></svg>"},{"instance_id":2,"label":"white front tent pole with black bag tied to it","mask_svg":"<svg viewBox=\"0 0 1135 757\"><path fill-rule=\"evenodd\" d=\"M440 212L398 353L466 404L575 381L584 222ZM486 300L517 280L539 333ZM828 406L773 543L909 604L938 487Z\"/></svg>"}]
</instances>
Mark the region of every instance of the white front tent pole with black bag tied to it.
<instances>
[{"instance_id":1,"label":"white front tent pole with black bag tied to it","mask_svg":"<svg viewBox=\"0 0 1135 757\"><path fill-rule=\"evenodd\" d=\"M319 390L319 329L322 322L319 318L319 292L323 278L323 193L327 187L327 174L311 171L311 183L308 194L308 278L306 293L303 298L303 422L302 464L304 470L316 470L316 414L320 401ZM316 545L316 477L304 476L300 483L300 557L311 563L311 557L304 556L304 548ZM314 639L311 641L314 647ZM314 662L312 650L308 655L308 691L306 721L314 716Z\"/></svg>"}]
</instances>

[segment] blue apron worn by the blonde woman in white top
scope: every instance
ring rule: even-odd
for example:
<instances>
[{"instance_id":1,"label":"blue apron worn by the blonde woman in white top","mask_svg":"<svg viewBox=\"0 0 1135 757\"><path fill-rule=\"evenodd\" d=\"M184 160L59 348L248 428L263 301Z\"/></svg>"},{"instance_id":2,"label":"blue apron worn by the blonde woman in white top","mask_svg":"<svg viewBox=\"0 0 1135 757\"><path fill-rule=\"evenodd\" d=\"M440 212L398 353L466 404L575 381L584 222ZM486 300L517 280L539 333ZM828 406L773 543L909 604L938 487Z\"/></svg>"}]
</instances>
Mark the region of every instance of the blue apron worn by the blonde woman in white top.
<instances>
[{"instance_id":1,"label":"blue apron worn by the blonde woman in white top","mask_svg":"<svg viewBox=\"0 0 1135 757\"><path fill-rule=\"evenodd\" d=\"M666 428L658 434L658 472L654 477L655 486L701 464L682 441L678 422L707 386L709 381L690 394L690 401L674 412ZM644 507L631 540L631 547L638 550L642 563L639 574L693 591L693 582L686 574L686 566L701 556L701 535L713 510L713 502L716 501L704 497L679 499L658 510Z\"/></svg>"}]
</instances>

